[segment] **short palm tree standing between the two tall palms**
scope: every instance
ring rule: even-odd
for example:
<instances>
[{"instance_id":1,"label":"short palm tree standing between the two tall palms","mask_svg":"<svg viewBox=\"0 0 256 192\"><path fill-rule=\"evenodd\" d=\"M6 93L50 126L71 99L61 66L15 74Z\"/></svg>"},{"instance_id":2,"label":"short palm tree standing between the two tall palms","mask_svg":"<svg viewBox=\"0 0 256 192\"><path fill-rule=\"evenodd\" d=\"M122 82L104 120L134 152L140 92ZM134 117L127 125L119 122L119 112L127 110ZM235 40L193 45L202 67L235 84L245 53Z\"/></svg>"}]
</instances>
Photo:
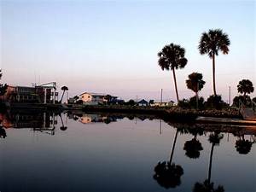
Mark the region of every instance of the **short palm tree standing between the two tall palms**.
<instances>
[{"instance_id":1,"label":"short palm tree standing between the two tall palms","mask_svg":"<svg viewBox=\"0 0 256 192\"><path fill-rule=\"evenodd\" d=\"M201 73L191 73L189 74L189 79L186 80L186 84L189 90L193 90L195 92L195 96L198 99L198 91L204 87L206 82L202 79Z\"/></svg>"}]
</instances>

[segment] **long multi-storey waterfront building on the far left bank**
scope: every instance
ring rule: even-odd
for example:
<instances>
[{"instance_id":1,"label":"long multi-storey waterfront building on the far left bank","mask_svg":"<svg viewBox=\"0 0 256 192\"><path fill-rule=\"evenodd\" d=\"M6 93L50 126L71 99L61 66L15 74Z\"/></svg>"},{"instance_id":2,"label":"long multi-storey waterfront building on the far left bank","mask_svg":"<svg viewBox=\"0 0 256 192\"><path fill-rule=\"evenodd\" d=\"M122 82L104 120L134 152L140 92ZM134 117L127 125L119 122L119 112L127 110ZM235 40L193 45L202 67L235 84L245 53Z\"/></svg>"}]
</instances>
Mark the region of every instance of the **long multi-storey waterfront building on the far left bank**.
<instances>
[{"instance_id":1,"label":"long multi-storey waterfront building on the far left bank","mask_svg":"<svg viewBox=\"0 0 256 192\"><path fill-rule=\"evenodd\" d=\"M8 86L4 96L0 100L8 102L26 102L26 103L49 103L55 101L58 93L55 92L55 83L52 86Z\"/></svg>"}]
</instances>

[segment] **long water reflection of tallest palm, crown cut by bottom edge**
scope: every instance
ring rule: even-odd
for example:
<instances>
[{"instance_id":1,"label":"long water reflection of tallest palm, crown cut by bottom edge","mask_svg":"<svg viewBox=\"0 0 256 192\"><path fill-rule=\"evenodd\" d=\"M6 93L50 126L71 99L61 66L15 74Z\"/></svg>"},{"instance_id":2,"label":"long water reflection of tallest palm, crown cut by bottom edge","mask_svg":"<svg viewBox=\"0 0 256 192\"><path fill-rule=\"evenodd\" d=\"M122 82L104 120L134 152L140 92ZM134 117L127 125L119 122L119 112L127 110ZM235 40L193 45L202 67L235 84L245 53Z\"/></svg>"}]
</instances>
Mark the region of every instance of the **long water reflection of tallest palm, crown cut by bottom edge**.
<instances>
[{"instance_id":1,"label":"long water reflection of tallest palm, crown cut by bottom edge","mask_svg":"<svg viewBox=\"0 0 256 192\"><path fill-rule=\"evenodd\" d=\"M212 143L211 154L210 154L210 162L209 162L209 170L208 170L208 178L204 181L204 183L195 183L194 192L224 192L224 187L218 185L216 189L214 189L214 183L211 183L211 173L212 173L212 154L215 145L218 145L220 140L223 138L223 135L218 131L215 131L209 137L209 142Z\"/></svg>"}]
</instances>

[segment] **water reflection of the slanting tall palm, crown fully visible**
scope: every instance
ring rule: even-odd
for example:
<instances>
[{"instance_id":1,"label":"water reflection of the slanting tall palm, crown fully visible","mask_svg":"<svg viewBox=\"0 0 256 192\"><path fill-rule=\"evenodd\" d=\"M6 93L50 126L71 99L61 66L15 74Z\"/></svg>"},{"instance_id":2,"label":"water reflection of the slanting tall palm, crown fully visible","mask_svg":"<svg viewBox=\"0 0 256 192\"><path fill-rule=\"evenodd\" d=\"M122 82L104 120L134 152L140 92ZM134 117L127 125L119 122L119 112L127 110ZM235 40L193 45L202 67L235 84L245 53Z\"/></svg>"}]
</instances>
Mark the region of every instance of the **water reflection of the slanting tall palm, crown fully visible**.
<instances>
[{"instance_id":1,"label":"water reflection of the slanting tall palm, crown fully visible","mask_svg":"<svg viewBox=\"0 0 256 192\"><path fill-rule=\"evenodd\" d=\"M168 188L175 188L181 184L181 176L183 175L183 168L182 166L176 165L172 162L172 157L174 154L174 148L177 141L177 132L176 131L174 142L172 145L172 153L170 156L169 161L159 162L154 167L154 179L160 186L168 189Z\"/></svg>"}]
</instances>

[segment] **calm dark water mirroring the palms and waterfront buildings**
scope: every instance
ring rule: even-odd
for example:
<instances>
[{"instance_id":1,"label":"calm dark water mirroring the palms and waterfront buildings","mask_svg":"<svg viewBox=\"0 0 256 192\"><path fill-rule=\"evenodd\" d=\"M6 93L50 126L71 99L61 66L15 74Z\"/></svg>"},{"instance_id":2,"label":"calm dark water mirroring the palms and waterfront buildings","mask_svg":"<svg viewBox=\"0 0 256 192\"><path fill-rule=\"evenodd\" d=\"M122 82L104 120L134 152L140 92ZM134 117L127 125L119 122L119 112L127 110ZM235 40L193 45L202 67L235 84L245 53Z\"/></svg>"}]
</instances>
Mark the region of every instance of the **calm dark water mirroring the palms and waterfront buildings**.
<instances>
[{"instance_id":1,"label":"calm dark water mirroring the palms and waterfront buildings","mask_svg":"<svg viewBox=\"0 0 256 192\"><path fill-rule=\"evenodd\" d=\"M83 113L0 120L1 192L256 191L255 128Z\"/></svg>"}]
</instances>

